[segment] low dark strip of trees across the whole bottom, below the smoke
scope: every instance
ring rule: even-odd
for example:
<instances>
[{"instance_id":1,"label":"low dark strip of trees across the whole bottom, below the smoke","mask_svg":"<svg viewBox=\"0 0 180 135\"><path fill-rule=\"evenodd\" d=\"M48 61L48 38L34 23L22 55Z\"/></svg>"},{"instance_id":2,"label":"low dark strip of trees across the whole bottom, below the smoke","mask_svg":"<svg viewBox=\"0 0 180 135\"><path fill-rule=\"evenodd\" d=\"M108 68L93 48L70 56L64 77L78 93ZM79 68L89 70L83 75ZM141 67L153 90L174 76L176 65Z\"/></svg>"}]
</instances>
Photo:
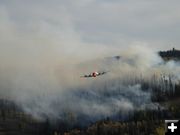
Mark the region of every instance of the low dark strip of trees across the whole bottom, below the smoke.
<instances>
[{"instance_id":1,"label":"low dark strip of trees across the whole bottom, below the smoke","mask_svg":"<svg viewBox=\"0 0 180 135\"><path fill-rule=\"evenodd\" d=\"M0 133L6 132L10 135L162 135L164 133L164 119L180 118L179 102L177 98L172 102L163 102L166 109L138 110L124 121L112 121L107 118L86 129L74 127L70 131L65 123L56 123L54 126L50 124L48 119L40 123L24 114L20 109L16 109L16 106L9 101L1 100Z\"/></svg>"}]
</instances>

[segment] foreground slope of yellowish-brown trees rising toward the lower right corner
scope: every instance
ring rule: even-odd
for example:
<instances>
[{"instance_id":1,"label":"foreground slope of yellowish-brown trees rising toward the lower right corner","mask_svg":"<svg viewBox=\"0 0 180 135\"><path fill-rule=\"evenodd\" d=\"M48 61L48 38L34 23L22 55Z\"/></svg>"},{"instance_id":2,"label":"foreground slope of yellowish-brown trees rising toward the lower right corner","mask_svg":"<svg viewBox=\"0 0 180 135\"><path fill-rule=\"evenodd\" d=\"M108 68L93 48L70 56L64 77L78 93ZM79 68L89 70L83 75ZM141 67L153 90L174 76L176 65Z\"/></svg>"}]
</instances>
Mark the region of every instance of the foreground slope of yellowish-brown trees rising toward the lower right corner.
<instances>
[{"instance_id":1,"label":"foreground slope of yellowish-brown trees rising toward the lower right corner","mask_svg":"<svg viewBox=\"0 0 180 135\"><path fill-rule=\"evenodd\" d=\"M136 111L129 120L103 120L86 130L75 129L64 135L163 135L164 120L177 118L180 118L180 107L170 105L167 110Z\"/></svg>"}]
</instances>

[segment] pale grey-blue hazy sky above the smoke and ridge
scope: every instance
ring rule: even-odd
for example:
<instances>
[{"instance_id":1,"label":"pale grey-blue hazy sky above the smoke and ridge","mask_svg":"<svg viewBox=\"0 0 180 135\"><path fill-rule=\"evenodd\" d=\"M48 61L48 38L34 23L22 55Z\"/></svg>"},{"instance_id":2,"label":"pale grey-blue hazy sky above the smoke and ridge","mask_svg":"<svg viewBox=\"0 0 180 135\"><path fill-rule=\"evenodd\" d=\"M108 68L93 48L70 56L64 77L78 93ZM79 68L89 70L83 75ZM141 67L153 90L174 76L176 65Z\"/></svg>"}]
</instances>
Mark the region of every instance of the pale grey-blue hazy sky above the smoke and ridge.
<instances>
[{"instance_id":1,"label":"pale grey-blue hazy sky above the smoke and ridge","mask_svg":"<svg viewBox=\"0 0 180 135\"><path fill-rule=\"evenodd\" d=\"M179 0L0 0L0 34L43 33L57 42L120 49L134 44L179 48L179 5Z\"/></svg>"}]
</instances>

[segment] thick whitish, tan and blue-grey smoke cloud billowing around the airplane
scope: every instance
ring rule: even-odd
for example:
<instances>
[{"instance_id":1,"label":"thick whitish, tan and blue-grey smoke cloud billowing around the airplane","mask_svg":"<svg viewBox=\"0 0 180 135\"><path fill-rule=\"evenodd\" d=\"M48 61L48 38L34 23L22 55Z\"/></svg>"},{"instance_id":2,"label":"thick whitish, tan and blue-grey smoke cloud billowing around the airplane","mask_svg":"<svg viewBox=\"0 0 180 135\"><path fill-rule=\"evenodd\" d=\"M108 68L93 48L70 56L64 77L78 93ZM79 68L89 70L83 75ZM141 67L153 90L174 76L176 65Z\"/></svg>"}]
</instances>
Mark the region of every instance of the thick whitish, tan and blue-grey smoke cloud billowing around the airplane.
<instances>
[{"instance_id":1,"label":"thick whitish, tan and blue-grey smoke cloud billowing around the airplane","mask_svg":"<svg viewBox=\"0 0 180 135\"><path fill-rule=\"evenodd\" d=\"M76 123L125 115L154 105L150 90L142 90L141 83L134 81L138 77L151 83L154 74L159 79L172 74L178 83L179 64L164 64L147 45L133 43L119 52L84 42L66 9L62 10L65 18L58 20L62 25L58 33L59 25L52 25L51 18L35 19L35 24L22 30L5 8L0 10L0 97L16 102L36 118ZM116 54L119 60L108 57ZM80 78L92 71L110 72Z\"/></svg>"}]
</instances>

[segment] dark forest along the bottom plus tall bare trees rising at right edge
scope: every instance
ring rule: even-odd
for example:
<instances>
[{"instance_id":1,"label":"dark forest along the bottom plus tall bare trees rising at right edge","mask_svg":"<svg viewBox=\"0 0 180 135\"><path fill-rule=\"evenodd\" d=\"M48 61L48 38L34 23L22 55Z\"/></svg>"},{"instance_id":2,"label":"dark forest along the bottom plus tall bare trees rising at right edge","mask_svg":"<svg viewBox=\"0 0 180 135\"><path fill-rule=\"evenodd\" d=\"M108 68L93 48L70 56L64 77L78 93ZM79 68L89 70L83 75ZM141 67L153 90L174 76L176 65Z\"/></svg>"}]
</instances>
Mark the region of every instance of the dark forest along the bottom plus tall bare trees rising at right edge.
<instances>
[{"instance_id":1,"label":"dark forest along the bottom plus tall bare trees rising at right edge","mask_svg":"<svg viewBox=\"0 0 180 135\"><path fill-rule=\"evenodd\" d=\"M123 121L112 121L111 118L107 118L86 128L79 125L70 128L67 123L62 121L51 124L48 119L39 122L25 114L16 104L8 100L0 100L0 134L161 135L164 133L165 119L180 118L180 85L175 84L172 78L171 75L168 78L162 77L160 79L152 77L151 81L133 78L133 84L141 83L142 90L151 90L152 101L160 103L163 108L158 106L155 110L136 110L133 113L130 112L129 117Z\"/></svg>"}]
</instances>

